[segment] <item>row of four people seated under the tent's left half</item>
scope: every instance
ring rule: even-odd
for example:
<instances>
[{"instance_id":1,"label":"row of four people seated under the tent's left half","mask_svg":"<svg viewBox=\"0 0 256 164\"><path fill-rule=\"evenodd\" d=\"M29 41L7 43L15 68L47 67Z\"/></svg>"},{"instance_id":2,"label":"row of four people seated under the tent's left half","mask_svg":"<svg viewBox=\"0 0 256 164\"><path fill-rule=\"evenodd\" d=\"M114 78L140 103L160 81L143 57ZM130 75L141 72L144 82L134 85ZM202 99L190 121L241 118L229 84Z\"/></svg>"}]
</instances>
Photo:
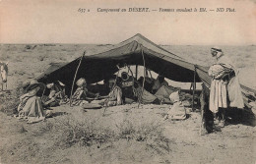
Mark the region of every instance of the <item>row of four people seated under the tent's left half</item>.
<instances>
[{"instance_id":1,"label":"row of four people seated under the tent's left half","mask_svg":"<svg viewBox=\"0 0 256 164\"><path fill-rule=\"evenodd\" d=\"M68 100L65 94L65 84L62 82L49 82L45 85L32 80L29 86L25 88L26 93L20 96L20 104L17 108L18 115L15 117L25 119L28 121L27 123L43 121L52 116L50 107L59 106L69 101L72 105L87 103L96 103L100 106L121 105L123 103L122 89L118 86L119 82L111 79L107 83L110 88L109 94L100 96L98 93L89 91L86 80L82 78L76 82L78 87Z\"/></svg>"}]
</instances>

